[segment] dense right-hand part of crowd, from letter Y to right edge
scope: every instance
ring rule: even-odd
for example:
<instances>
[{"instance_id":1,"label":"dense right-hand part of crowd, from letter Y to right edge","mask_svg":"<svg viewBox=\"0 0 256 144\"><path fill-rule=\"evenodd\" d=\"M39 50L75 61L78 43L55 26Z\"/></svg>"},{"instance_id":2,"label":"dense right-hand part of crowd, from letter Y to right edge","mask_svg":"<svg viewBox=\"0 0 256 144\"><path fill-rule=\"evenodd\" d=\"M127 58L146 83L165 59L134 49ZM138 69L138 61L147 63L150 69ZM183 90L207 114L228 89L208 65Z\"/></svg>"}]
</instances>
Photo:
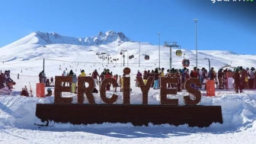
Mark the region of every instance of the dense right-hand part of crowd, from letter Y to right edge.
<instances>
[{"instance_id":1,"label":"dense right-hand part of crowd, from letter Y to right edge","mask_svg":"<svg viewBox=\"0 0 256 144\"><path fill-rule=\"evenodd\" d=\"M197 67L194 67L193 70L189 70L184 67L184 69L168 69L166 73L164 68L155 68L155 70L151 72L150 70L145 70L143 74L138 70L136 76L142 76L145 84L149 76L152 76L154 78L154 82L152 82L153 89L160 87L159 81L161 81L162 77L178 77L178 84L168 84L168 88L176 87L178 91L179 89L184 89L184 82L186 82L188 78L198 78L203 85L200 88L206 88L205 84L207 80L214 80L216 88L226 88L227 90L234 89L236 93L238 93L238 90L242 93L243 89L253 89L256 85L256 72L254 67L251 67L251 69L243 69L242 66L238 66L233 70L227 68L219 69L217 72L213 67L210 69L210 72L207 72L205 68L197 69ZM137 82L136 86L139 86Z\"/></svg>"}]
</instances>

